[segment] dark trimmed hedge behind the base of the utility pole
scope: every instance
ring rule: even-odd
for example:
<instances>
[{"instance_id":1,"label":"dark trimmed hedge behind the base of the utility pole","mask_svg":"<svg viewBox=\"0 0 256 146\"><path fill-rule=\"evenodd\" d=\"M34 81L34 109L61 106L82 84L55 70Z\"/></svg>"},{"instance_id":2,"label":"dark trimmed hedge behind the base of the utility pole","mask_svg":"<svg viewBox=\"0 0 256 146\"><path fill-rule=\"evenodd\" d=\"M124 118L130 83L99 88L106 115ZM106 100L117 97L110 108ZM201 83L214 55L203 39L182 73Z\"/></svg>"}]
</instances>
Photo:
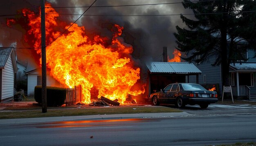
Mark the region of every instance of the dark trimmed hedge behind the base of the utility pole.
<instances>
[{"instance_id":1,"label":"dark trimmed hedge behind the base of the utility pole","mask_svg":"<svg viewBox=\"0 0 256 146\"><path fill-rule=\"evenodd\" d=\"M47 106L61 106L65 103L67 91L65 88L46 87ZM35 86L34 98L42 104L42 86Z\"/></svg>"}]
</instances>

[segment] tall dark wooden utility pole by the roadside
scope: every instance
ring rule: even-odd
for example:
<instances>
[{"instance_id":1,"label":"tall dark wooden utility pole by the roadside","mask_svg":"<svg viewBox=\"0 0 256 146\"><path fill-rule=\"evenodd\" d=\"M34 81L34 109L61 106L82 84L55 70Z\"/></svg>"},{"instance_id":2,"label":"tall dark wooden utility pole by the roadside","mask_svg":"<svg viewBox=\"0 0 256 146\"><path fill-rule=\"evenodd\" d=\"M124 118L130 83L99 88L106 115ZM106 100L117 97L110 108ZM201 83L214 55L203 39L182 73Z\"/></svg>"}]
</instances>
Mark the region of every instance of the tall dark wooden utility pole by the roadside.
<instances>
[{"instance_id":1,"label":"tall dark wooden utility pole by the roadside","mask_svg":"<svg viewBox=\"0 0 256 146\"><path fill-rule=\"evenodd\" d=\"M46 50L45 50L45 0L41 0L41 58L42 58L42 113L47 112Z\"/></svg>"}]
</instances>

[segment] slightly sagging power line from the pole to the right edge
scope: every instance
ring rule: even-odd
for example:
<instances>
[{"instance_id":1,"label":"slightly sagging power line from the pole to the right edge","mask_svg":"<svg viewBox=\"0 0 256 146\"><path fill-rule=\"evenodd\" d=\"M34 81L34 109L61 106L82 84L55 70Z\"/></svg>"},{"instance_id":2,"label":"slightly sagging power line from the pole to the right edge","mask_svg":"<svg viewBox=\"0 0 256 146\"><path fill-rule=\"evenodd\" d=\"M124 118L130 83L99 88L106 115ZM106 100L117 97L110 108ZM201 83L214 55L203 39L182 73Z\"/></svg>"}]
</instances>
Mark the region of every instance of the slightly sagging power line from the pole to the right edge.
<instances>
[{"instance_id":1,"label":"slightly sagging power line from the pole to the right edge","mask_svg":"<svg viewBox=\"0 0 256 146\"><path fill-rule=\"evenodd\" d=\"M210 14L224 14L224 13L250 13L255 11L232 11L232 12L218 12L218 13L191 13L191 14L160 14L160 15L84 15L84 16L174 16L174 15L210 15ZM81 15L81 14L66 14L66 13L46 13L46 14L59 14L59 15ZM82 14L83 15L83 14Z\"/></svg>"}]
</instances>

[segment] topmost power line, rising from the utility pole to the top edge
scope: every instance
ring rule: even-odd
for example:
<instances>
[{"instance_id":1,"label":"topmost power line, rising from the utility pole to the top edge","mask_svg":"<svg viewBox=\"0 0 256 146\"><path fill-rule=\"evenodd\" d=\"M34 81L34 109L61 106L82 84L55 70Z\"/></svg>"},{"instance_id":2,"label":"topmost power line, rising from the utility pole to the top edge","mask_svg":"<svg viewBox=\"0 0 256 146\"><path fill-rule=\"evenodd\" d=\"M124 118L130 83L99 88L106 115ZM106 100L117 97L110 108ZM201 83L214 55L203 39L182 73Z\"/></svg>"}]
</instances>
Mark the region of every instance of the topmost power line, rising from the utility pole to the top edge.
<instances>
[{"instance_id":1,"label":"topmost power line, rising from the utility pole to the top edge","mask_svg":"<svg viewBox=\"0 0 256 146\"><path fill-rule=\"evenodd\" d=\"M219 0L205 0L198 2L211 2L211 1L219 1ZM157 4L128 4L128 5L115 5L115 6L92 6L94 8L97 7L130 7L130 6L148 6L148 5L160 5L160 4L181 4L182 2L168 2L168 3L157 3ZM195 3L195 2L184 2L184 3ZM78 6L78 7L45 7L45 8L87 8L89 6Z\"/></svg>"}]
</instances>

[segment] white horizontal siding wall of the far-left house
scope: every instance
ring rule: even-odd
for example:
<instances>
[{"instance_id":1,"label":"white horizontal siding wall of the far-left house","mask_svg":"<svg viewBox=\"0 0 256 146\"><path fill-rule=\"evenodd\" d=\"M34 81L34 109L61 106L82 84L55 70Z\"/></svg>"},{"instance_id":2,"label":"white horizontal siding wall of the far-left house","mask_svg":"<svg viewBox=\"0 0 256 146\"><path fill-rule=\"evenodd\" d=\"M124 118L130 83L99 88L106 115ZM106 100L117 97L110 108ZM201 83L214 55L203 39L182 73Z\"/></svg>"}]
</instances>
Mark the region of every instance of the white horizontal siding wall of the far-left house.
<instances>
[{"instance_id":1,"label":"white horizontal siding wall of the far-left house","mask_svg":"<svg viewBox=\"0 0 256 146\"><path fill-rule=\"evenodd\" d=\"M13 88L14 88L14 70L9 56L4 69L2 69L2 100L13 97Z\"/></svg>"}]
</instances>

